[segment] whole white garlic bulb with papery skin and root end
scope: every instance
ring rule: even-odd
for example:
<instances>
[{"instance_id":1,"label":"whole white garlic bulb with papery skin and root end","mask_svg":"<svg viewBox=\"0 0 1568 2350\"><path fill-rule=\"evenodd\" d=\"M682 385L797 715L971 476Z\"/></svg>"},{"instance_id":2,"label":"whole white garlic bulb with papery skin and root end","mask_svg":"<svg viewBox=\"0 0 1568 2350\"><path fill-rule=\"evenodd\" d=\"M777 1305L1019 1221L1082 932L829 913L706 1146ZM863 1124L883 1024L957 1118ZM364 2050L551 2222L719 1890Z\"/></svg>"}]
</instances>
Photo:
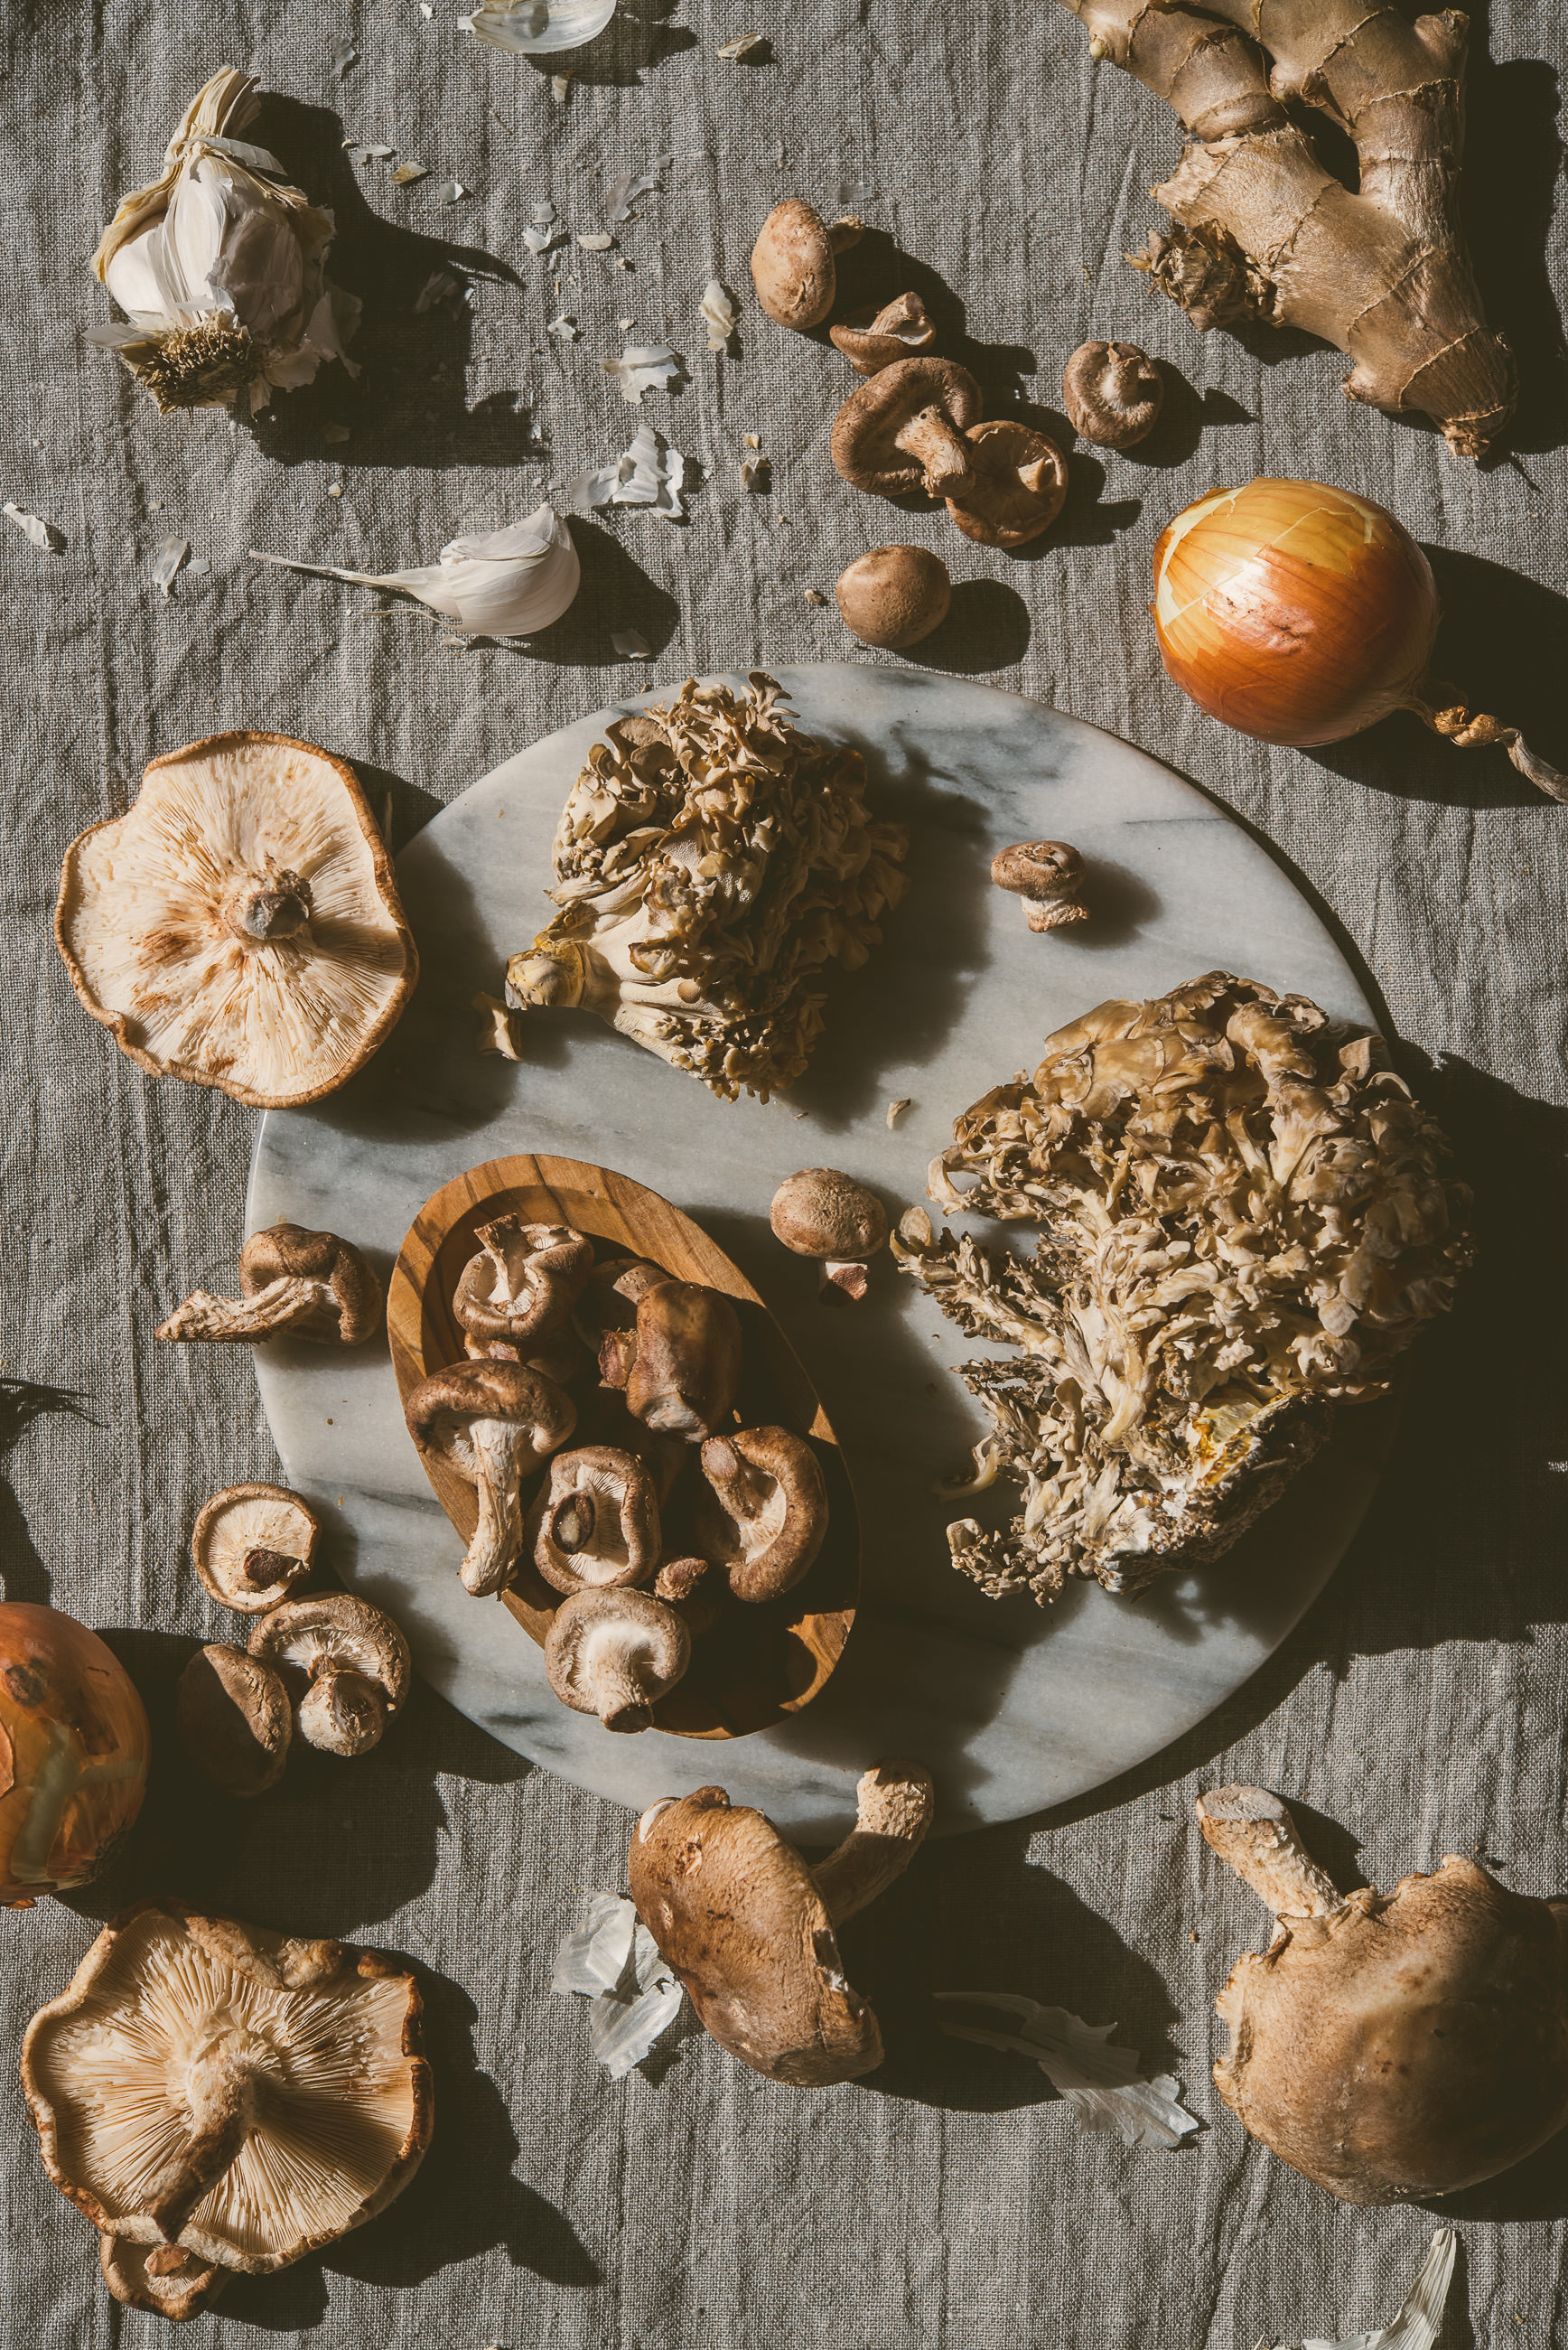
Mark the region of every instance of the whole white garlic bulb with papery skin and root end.
<instances>
[{"instance_id":1,"label":"whole white garlic bulb with papery skin and root end","mask_svg":"<svg viewBox=\"0 0 1568 2350\"><path fill-rule=\"evenodd\" d=\"M230 136L256 113L256 80L223 66L197 92L150 188L127 195L94 270L129 317L96 327L160 409L263 409L310 383L322 360L360 369L346 343L353 294L327 282L336 235L266 148Z\"/></svg>"}]
</instances>

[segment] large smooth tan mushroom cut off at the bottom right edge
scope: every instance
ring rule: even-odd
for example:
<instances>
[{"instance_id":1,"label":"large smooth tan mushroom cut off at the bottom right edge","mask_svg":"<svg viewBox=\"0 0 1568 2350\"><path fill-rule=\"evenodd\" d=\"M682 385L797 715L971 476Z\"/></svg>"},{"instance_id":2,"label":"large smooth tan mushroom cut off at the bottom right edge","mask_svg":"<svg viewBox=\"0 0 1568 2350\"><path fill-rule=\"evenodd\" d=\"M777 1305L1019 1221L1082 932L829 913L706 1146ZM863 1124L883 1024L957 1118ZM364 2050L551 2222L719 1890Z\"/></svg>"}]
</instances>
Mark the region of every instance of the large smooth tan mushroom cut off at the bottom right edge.
<instances>
[{"instance_id":1,"label":"large smooth tan mushroom cut off at the bottom right edge","mask_svg":"<svg viewBox=\"0 0 1568 2350\"><path fill-rule=\"evenodd\" d=\"M1215 2000L1213 2077L1281 2162L1349 2204L1453 2195L1568 2122L1568 1901L1453 1854L1349 1896L1258 1786L1197 1802L1204 1835L1276 1915Z\"/></svg>"}]
</instances>

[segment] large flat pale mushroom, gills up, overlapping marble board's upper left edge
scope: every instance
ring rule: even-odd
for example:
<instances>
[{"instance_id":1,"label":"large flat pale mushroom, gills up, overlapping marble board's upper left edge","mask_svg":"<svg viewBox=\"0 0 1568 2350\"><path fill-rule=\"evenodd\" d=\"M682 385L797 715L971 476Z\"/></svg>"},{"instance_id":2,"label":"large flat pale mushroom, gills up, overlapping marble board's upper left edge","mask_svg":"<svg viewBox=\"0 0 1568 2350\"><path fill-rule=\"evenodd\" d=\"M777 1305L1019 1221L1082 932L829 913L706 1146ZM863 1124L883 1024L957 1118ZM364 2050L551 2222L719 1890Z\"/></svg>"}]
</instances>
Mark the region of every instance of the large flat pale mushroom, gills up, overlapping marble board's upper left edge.
<instances>
[{"instance_id":1,"label":"large flat pale mushroom, gills up, overlapping marble board's upper left edge","mask_svg":"<svg viewBox=\"0 0 1568 2350\"><path fill-rule=\"evenodd\" d=\"M270 733L153 759L134 806L66 851L54 938L139 1067L254 1109L346 1083L418 978L353 768Z\"/></svg>"}]
</instances>

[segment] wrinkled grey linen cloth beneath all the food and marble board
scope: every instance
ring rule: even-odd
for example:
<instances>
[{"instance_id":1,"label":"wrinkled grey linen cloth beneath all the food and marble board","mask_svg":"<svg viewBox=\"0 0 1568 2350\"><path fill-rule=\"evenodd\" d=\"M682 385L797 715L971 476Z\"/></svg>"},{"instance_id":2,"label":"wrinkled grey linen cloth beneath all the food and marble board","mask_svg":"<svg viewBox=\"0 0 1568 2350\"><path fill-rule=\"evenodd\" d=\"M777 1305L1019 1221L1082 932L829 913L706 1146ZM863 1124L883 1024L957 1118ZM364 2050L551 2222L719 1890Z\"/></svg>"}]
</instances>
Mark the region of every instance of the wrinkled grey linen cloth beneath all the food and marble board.
<instances>
[{"instance_id":1,"label":"wrinkled grey linen cloth beneath all the food and marble board","mask_svg":"<svg viewBox=\"0 0 1568 2350\"><path fill-rule=\"evenodd\" d=\"M1255 472L1340 482L1432 545L1441 672L1568 764L1561 9L1474 14L1467 202L1490 315L1523 367L1509 454L1474 468L1352 407L1338 352L1199 338L1126 268L1178 129L1091 63L1051 0L811 0L755 16L736 0L623 0L574 61L564 106L552 61L475 47L458 5L12 0L0 28L2 482L66 533L59 555L9 524L0 536L0 1354L7 1377L73 1391L42 1412L7 1394L2 1567L12 1598L108 1629L160 1732L113 1880L0 1918L0 2343L165 2341L162 2319L108 2301L87 2221L45 2178L14 2063L96 1920L148 1889L407 1953L437 2070L435 2146L402 2202L320 2261L235 2280L188 2326L193 2350L1251 2350L1387 2322L1434 2216L1335 2204L1253 2146L1208 2084L1213 1993L1265 1920L1206 1854L1192 1798L1225 1779L1300 1798L1345 1882L1483 1852L1519 1889L1568 1889L1568 811L1502 754L1460 754L1413 721L1321 754L1225 733L1166 684L1145 604L1154 536L1192 496ZM769 35L755 61L717 56L748 31ZM339 73L346 42L360 54ZM331 273L364 298L364 374L327 367L254 428L160 418L85 341L110 315L87 266L99 228L223 63L275 94L249 136L334 207ZM397 188L395 157L350 139L428 176ZM661 167L661 190L611 254L529 254L536 202L592 235L607 183L642 164ZM1159 435L1128 456L1074 451L1063 524L1020 557L856 496L827 463L842 360L750 296L750 242L788 193L872 223L851 275L922 287L947 348L969 336L957 348L992 414L1013 400L1053 411L1081 338L1131 336L1171 369ZM418 310L435 270L468 298ZM724 357L696 317L712 275L741 298ZM581 341L548 331L562 313ZM649 397L644 416L701 465L701 486L679 526L574 522L583 595L534 649L463 649L414 606L247 562L259 545L383 571L517 519L644 421L599 371L618 320L686 355L689 388ZM329 442L329 423L348 439ZM752 432L769 491L741 484ZM167 536L209 564L169 599L150 578ZM1420 1349L1366 1530L1267 1671L1070 1812L929 1847L846 1932L851 1979L889 2030L884 2073L776 2089L686 2028L609 2084L548 1976L581 1887L623 1885L623 1812L423 1687L374 1755L299 1755L252 1807L223 1805L181 1760L174 1678L195 1638L233 1631L190 1574L190 1520L205 1495L277 1462L247 1351L167 1349L153 1328L233 1271L254 1116L113 1050L71 994L49 909L66 844L125 808L162 750L223 726L320 740L369 771L376 801L390 790L407 841L508 752L649 674L846 658L832 604L806 590L830 597L889 536L938 548L961 580L914 658L1166 757L1300 877L1458 1144L1483 1255ZM614 653L628 627L651 672ZM1034 2068L943 2040L931 1988L1117 2019L1208 2129L1180 2155L1079 2134ZM1566 2214L1568 2138L1460 2200L1448 2350L1568 2341Z\"/></svg>"}]
</instances>

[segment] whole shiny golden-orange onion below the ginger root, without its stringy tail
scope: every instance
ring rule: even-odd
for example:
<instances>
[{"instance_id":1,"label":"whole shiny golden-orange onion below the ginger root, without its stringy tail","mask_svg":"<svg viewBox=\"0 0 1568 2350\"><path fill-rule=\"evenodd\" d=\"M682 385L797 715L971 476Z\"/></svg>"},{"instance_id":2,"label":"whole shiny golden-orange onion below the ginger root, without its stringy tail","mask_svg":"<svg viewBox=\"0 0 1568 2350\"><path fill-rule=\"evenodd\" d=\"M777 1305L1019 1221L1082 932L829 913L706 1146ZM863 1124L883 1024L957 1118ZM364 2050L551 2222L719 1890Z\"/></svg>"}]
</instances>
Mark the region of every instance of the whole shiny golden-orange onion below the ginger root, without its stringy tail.
<instances>
[{"instance_id":1,"label":"whole shiny golden-orange onion below the ginger root, without its stringy tail","mask_svg":"<svg viewBox=\"0 0 1568 2350\"><path fill-rule=\"evenodd\" d=\"M1420 707L1432 564L1371 498L1324 482L1215 489L1154 545L1166 674L1260 743L1342 743Z\"/></svg>"}]
</instances>

